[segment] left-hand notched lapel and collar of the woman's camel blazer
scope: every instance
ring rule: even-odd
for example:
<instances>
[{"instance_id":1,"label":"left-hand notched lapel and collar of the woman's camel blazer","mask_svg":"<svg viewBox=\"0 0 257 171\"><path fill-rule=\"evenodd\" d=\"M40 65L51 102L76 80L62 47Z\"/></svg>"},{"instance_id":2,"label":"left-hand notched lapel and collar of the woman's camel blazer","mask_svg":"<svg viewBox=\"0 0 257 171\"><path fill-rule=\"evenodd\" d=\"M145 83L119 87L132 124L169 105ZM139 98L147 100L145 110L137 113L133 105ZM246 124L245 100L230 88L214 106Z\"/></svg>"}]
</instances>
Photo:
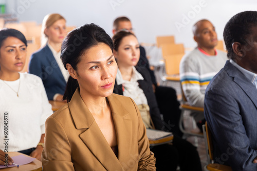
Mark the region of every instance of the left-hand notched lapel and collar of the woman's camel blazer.
<instances>
[{"instance_id":1,"label":"left-hand notched lapel and collar of the woman's camel blazer","mask_svg":"<svg viewBox=\"0 0 257 171\"><path fill-rule=\"evenodd\" d=\"M78 89L69 103L69 109L74 119L76 129L86 129L79 137L106 170L123 170L112 148L99 129L93 115L91 115L82 100Z\"/></svg>"}]
</instances>

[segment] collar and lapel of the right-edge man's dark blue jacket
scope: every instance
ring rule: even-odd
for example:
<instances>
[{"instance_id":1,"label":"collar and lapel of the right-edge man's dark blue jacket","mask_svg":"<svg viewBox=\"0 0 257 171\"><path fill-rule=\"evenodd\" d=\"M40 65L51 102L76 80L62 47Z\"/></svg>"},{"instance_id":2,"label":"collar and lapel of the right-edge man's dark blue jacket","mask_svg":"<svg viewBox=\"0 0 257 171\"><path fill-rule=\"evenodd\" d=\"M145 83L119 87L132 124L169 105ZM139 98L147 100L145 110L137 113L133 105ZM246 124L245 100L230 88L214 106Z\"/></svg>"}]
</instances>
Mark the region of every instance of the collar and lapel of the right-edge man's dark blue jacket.
<instances>
[{"instance_id":1,"label":"collar and lapel of the right-edge man's dark blue jacket","mask_svg":"<svg viewBox=\"0 0 257 171\"><path fill-rule=\"evenodd\" d=\"M247 96L252 100L255 107L257 108L256 87L243 75L243 73L235 68L229 61L227 61L226 66L229 76L234 78L233 81L242 88L242 90L247 94Z\"/></svg>"}]
</instances>

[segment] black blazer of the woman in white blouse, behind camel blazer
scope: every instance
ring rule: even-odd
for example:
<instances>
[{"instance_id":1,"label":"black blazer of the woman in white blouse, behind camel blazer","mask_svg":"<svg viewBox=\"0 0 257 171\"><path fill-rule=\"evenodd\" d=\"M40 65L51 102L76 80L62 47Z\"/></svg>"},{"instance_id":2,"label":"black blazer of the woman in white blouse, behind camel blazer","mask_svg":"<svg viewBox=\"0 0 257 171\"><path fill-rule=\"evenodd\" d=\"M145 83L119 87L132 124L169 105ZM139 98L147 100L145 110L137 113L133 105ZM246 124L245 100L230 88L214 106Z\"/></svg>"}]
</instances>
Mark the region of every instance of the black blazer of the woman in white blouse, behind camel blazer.
<instances>
[{"instance_id":1,"label":"black blazer of the woman in white blouse, behind camel blazer","mask_svg":"<svg viewBox=\"0 0 257 171\"><path fill-rule=\"evenodd\" d=\"M148 70L143 67L135 66L136 70L143 76L144 80L138 80L139 87L143 90L144 95L148 101L150 107L151 118L154 122L155 129L162 130L163 123L160 117L160 111L156 102L156 98L153 92L152 81ZM122 85L118 85L115 81L114 93L123 95Z\"/></svg>"}]
</instances>

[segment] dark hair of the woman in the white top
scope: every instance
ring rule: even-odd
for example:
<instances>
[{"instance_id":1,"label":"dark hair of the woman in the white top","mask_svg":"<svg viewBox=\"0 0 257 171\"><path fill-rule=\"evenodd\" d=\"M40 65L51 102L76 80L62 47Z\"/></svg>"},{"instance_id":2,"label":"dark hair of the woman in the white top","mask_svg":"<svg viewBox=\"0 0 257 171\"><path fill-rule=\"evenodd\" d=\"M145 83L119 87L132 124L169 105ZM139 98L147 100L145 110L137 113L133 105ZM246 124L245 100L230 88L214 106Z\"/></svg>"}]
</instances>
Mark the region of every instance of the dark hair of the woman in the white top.
<instances>
[{"instance_id":1,"label":"dark hair of the woman in the white top","mask_svg":"<svg viewBox=\"0 0 257 171\"><path fill-rule=\"evenodd\" d=\"M4 40L8 37L16 37L17 39L20 39L26 45L26 47L28 46L27 40L22 32L15 29L4 28L0 30L0 48L2 47Z\"/></svg>"}]
</instances>

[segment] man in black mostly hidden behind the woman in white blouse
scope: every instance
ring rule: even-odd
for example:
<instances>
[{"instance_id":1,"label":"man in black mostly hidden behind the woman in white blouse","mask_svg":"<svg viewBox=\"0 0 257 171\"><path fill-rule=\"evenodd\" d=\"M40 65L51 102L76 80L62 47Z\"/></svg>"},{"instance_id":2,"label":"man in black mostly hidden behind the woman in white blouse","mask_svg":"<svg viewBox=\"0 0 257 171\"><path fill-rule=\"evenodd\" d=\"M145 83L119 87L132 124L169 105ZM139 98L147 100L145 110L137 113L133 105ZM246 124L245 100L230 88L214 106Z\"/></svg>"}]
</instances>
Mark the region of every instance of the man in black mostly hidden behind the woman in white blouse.
<instances>
[{"instance_id":1,"label":"man in black mostly hidden behind the woman in white blouse","mask_svg":"<svg viewBox=\"0 0 257 171\"><path fill-rule=\"evenodd\" d=\"M119 31L129 31L134 34L131 20L125 16L116 18L113 23L113 34L116 34ZM139 45L139 50L140 57L137 62L137 66L146 68L150 73L153 91L155 93L155 98L160 113L163 116L163 121L165 122L165 125L172 125L164 126L163 124L162 130L172 132L173 134L182 137L183 134L179 130L178 126L181 111L179 109L180 103L177 101L176 91L171 87L163 87L158 85L154 71L150 69L145 49Z\"/></svg>"}]
</instances>

